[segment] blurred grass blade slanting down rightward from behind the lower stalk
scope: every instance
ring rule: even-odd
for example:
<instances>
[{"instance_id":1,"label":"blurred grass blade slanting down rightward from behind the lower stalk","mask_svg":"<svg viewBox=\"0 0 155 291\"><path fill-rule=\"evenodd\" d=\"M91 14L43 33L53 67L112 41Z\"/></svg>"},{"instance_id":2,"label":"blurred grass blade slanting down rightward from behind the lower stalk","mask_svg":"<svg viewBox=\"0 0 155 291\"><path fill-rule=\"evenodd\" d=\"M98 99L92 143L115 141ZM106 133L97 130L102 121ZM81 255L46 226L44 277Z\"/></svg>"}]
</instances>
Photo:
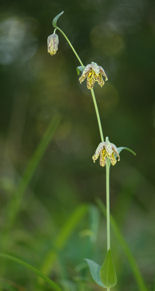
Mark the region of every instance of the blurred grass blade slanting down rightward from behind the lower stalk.
<instances>
[{"instance_id":1,"label":"blurred grass blade slanting down rightward from behind the lower stalk","mask_svg":"<svg viewBox=\"0 0 155 291\"><path fill-rule=\"evenodd\" d=\"M97 204L98 204L100 210L103 212L104 216L106 216L106 208L105 208L105 205L103 204L103 202L101 200L97 199ZM133 272L133 275L135 277L135 280L137 282L139 290L140 291L149 291L145 285L145 282L144 282L143 277L140 273L140 270L139 270L139 267L136 263L136 260L135 260L134 256L132 255L130 248L128 247L128 244L126 243L125 239L123 238L123 235L121 234L121 231L119 230L119 227L118 227L115 219L112 216L111 216L111 227L112 227L124 253L126 254L126 257L127 257L128 262L131 266L131 270Z\"/></svg>"}]
</instances>

